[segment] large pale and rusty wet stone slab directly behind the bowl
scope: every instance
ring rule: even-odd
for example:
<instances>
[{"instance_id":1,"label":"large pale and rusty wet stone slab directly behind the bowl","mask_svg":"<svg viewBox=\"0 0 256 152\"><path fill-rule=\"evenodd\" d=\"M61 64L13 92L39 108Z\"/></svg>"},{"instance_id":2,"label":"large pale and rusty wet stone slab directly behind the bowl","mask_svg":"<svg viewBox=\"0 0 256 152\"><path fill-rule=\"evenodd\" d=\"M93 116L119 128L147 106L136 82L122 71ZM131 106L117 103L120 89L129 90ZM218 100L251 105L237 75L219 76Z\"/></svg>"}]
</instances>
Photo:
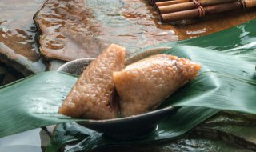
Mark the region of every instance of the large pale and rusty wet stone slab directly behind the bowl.
<instances>
[{"instance_id":1,"label":"large pale and rusty wet stone slab directly behind the bowl","mask_svg":"<svg viewBox=\"0 0 256 152\"><path fill-rule=\"evenodd\" d=\"M155 26L143 2L50 0L35 21L42 30L42 53L62 60L95 57L110 43L126 46L129 56L145 46L178 40L173 30Z\"/></svg>"}]
</instances>

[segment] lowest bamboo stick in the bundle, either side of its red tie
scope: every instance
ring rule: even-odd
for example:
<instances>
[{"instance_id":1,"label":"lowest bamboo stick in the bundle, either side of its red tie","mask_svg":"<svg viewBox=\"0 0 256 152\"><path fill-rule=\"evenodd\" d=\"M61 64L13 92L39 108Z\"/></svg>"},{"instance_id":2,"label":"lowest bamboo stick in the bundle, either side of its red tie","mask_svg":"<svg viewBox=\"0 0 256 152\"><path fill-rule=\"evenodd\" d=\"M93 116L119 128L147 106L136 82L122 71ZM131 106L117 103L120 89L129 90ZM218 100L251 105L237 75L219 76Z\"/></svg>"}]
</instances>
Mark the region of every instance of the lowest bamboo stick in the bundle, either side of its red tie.
<instances>
[{"instance_id":1,"label":"lowest bamboo stick in the bundle, either side of its red tie","mask_svg":"<svg viewBox=\"0 0 256 152\"><path fill-rule=\"evenodd\" d=\"M253 0L253 1L256 1L256 0ZM249 2L246 4L249 4ZM250 6L254 6L254 4ZM215 5L215 6L204 7L205 14L216 14L216 13L221 13L229 10L238 10L238 9L242 9L241 2L230 2L230 3ZM198 9L183 10L183 11L174 12L170 14L160 15L160 19L162 22L174 22L181 19L196 18L196 17L199 17Z\"/></svg>"}]
</instances>

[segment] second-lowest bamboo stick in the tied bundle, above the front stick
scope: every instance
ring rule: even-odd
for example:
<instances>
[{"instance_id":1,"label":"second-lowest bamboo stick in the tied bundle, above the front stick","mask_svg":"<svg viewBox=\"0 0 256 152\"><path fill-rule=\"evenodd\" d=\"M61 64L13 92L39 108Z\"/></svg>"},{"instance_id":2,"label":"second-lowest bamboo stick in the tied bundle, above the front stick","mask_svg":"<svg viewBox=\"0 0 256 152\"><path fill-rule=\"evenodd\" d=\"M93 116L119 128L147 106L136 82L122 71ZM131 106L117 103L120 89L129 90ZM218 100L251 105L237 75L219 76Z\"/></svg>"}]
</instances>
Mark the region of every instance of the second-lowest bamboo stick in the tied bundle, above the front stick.
<instances>
[{"instance_id":1,"label":"second-lowest bamboo stick in the tied bundle, above the front stick","mask_svg":"<svg viewBox=\"0 0 256 152\"><path fill-rule=\"evenodd\" d=\"M226 2L234 2L234 1L237 1L237 0L207 0L207 1L202 1L200 3L202 6L213 6L213 5L218 5ZM173 4L169 6L159 6L157 10L159 14L169 14L177 11L190 10L194 8L195 8L194 2L183 2L183 3Z\"/></svg>"}]
</instances>

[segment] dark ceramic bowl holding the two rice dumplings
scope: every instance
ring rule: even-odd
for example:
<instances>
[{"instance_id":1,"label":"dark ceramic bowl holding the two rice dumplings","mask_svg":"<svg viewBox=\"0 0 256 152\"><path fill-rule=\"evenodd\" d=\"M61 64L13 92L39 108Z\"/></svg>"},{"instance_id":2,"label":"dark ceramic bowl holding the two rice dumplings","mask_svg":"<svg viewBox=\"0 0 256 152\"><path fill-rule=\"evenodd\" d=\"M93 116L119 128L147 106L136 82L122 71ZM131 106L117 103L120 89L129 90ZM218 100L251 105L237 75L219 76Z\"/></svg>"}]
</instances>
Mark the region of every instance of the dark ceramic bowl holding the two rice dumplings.
<instances>
[{"instance_id":1,"label":"dark ceramic bowl holding the two rice dumplings","mask_svg":"<svg viewBox=\"0 0 256 152\"><path fill-rule=\"evenodd\" d=\"M138 61L138 59L145 58L146 56L150 56L150 54L155 54L159 51L159 48L147 50L146 53L137 54L134 57L126 59L126 62L131 63L131 61ZM93 59L94 58L81 58L67 62L59 67L58 71L79 75ZM153 110L145 114L134 115L126 118L89 120L88 122L77 123L92 130L102 132L111 138L130 139L138 138L150 131L154 131L158 125L158 122L160 122L163 118L170 116L170 114L174 114L176 111L176 108L174 109L173 107L169 106L160 110Z\"/></svg>"}]
</instances>

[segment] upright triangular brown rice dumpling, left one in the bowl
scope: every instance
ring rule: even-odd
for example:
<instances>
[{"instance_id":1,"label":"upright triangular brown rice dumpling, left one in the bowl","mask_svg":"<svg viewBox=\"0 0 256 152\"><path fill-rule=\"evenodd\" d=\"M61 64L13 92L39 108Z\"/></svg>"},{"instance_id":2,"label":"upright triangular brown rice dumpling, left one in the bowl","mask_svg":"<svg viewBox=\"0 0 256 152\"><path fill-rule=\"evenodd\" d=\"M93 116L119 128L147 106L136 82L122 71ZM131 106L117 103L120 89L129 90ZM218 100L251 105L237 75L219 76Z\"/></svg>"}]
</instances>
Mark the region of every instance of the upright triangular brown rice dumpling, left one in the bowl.
<instances>
[{"instance_id":1,"label":"upright triangular brown rice dumpling, left one in the bowl","mask_svg":"<svg viewBox=\"0 0 256 152\"><path fill-rule=\"evenodd\" d=\"M110 45L83 71L58 112L72 118L116 118L117 110L110 106L112 74L122 70L124 62L125 49Z\"/></svg>"}]
</instances>

